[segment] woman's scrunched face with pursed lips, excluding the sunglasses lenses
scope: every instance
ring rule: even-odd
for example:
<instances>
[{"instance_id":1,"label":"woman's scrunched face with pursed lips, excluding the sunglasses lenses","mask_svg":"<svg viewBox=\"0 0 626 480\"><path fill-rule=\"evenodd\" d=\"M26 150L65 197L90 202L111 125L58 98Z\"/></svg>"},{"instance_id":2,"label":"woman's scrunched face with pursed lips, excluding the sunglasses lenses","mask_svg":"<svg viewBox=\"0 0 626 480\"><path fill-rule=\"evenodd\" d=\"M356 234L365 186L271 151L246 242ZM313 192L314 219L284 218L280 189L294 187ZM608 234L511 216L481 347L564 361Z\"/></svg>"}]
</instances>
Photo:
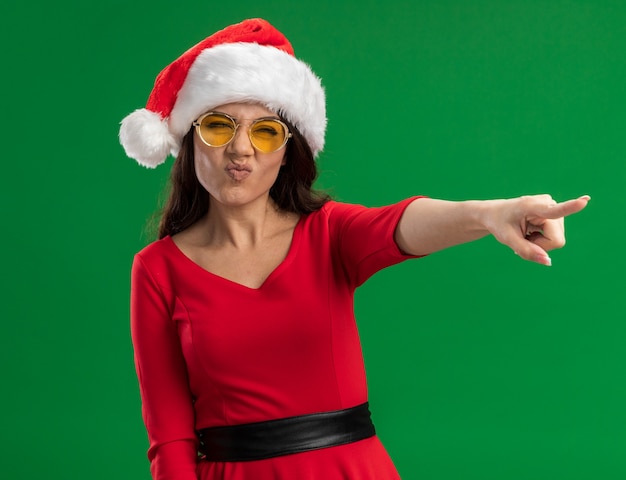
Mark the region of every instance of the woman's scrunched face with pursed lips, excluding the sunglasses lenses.
<instances>
[{"instance_id":1,"label":"woman's scrunched face with pursed lips, excluding the sunglasses lenses","mask_svg":"<svg viewBox=\"0 0 626 480\"><path fill-rule=\"evenodd\" d=\"M248 136L250 124L259 118L278 115L249 103L229 103L212 109L235 119L239 127L230 143L210 147L194 132L196 176L211 197L229 207L267 202L280 167L285 164L285 148L272 153L255 149Z\"/></svg>"}]
</instances>

